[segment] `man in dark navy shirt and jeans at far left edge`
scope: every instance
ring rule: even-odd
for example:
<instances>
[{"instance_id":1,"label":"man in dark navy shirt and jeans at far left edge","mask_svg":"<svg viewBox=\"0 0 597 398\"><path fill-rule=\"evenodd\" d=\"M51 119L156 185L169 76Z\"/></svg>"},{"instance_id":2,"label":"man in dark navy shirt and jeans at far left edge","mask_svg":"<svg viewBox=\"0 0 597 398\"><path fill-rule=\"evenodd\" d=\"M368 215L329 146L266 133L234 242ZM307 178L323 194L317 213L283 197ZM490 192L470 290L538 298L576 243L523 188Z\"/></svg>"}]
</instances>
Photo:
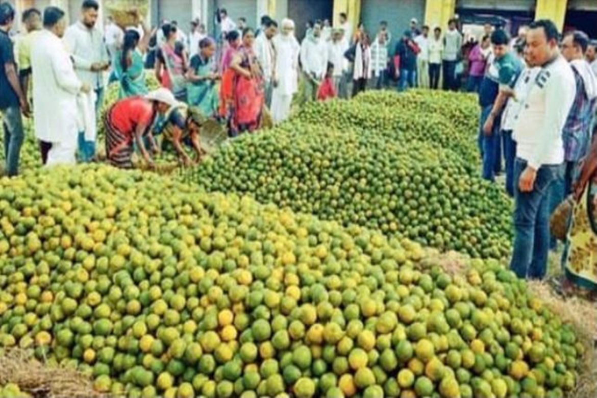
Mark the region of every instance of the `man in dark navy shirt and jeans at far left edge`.
<instances>
[{"instance_id":1,"label":"man in dark navy shirt and jeans at far left edge","mask_svg":"<svg viewBox=\"0 0 597 398\"><path fill-rule=\"evenodd\" d=\"M21 109L29 114L29 105L21 90L14 61L13 42L8 32L13 27L14 8L8 2L0 4L0 115L4 127L5 173L12 177L19 172L19 155L23 144Z\"/></svg>"}]
</instances>

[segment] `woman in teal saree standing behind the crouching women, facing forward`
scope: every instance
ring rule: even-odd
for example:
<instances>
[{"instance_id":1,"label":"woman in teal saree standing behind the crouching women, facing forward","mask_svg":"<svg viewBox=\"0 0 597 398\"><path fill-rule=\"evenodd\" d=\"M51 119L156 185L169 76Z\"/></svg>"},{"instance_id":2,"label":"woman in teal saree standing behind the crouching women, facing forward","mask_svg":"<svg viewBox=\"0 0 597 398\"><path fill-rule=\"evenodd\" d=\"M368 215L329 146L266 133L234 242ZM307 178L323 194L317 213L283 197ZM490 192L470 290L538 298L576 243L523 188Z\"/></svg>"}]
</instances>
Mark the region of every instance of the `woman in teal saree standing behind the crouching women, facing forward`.
<instances>
[{"instance_id":1,"label":"woman in teal saree standing behind the crouching women, facing forward","mask_svg":"<svg viewBox=\"0 0 597 398\"><path fill-rule=\"evenodd\" d=\"M215 72L214 54L216 42L204 38L199 42L199 54L193 55L187 71L187 103L198 108L205 118L217 115L219 93L216 82L220 75Z\"/></svg>"}]
</instances>

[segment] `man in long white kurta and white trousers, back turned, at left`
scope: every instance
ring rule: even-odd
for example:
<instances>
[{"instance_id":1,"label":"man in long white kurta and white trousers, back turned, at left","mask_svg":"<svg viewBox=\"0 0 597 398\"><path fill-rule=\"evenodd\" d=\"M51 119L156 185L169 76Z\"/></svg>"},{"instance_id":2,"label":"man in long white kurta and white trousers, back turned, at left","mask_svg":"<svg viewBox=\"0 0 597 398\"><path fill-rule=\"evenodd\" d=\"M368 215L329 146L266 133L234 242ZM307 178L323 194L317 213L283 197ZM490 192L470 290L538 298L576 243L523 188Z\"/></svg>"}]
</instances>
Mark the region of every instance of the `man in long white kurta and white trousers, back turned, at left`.
<instances>
[{"instance_id":1,"label":"man in long white kurta and white trousers, back turned, at left","mask_svg":"<svg viewBox=\"0 0 597 398\"><path fill-rule=\"evenodd\" d=\"M46 165L74 164L77 149L77 103L80 92L90 92L90 85L75 74L61 37L66 20L57 7L44 11L44 29L31 50L33 75L33 124L35 136L50 143Z\"/></svg>"}]
</instances>

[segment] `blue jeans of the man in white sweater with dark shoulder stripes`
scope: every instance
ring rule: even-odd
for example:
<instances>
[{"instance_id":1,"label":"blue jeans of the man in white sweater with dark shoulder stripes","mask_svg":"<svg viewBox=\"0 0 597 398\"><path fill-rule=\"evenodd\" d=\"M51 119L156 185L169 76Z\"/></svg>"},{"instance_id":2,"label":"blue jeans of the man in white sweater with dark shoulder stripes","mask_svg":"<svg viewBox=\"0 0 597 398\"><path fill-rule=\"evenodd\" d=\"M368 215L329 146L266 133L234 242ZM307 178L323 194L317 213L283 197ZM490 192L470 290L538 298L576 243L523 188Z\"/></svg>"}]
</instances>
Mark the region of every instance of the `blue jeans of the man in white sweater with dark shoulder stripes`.
<instances>
[{"instance_id":1,"label":"blue jeans of the man in white sweater with dark shoulder stripes","mask_svg":"<svg viewBox=\"0 0 597 398\"><path fill-rule=\"evenodd\" d=\"M518 277L542 279L547 271L549 252L549 192L554 181L562 178L562 165L544 165L537 171L531 192L521 192L518 181L527 162L514 162L514 247L512 269Z\"/></svg>"}]
</instances>

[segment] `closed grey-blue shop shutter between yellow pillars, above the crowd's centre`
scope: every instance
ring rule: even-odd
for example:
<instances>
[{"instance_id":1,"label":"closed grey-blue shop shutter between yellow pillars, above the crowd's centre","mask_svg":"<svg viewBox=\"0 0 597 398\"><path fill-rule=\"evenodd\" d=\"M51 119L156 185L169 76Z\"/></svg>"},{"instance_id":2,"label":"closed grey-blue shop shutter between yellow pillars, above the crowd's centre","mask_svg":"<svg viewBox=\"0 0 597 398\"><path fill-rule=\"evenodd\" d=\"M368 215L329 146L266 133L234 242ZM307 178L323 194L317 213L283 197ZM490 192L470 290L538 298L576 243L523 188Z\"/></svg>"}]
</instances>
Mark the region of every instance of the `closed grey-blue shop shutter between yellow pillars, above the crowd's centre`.
<instances>
[{"instance_id":1,"label":"closed grey-blue shop shutter between yellow pillars, above the crowd's centre","mask_svg":"<svg viewBox=\"0 0 597 398\"><path fill-rule=\"evenodd\" d=\"M417 18L421 27L424 15L425 2L418 0L363 0L361 5L361 20L371 40L379 30L380 21L387 21L387 28L392 33L390 54L393 54L396 40L401 38L404 30L410 27L410 20Z\"/></svg>"}]
</instances>

